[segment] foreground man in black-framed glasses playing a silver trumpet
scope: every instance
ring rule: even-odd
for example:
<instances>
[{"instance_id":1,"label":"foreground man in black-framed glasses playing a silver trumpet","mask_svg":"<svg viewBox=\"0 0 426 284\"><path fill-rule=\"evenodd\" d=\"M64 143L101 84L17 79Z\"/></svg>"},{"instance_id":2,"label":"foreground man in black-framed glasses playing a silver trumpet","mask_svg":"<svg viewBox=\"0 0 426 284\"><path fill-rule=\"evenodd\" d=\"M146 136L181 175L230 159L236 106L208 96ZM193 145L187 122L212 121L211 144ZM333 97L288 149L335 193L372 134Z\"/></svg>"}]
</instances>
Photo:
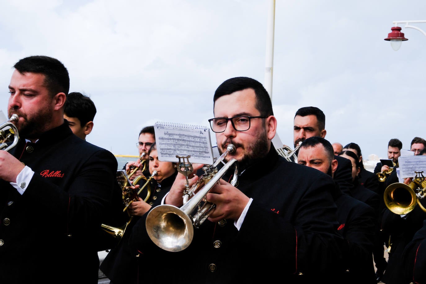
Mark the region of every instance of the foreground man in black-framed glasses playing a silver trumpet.
<instances>
[{"instance_id":1,"label":"foreground man in black-framed glasses playing a silver trumpet","mask_svg":"<svg viewBox=\"0 0 426 284\"><path fill-rule=\"evenodd\" d=\"M271 98L258 81L226 80L213 103L210 127L220 153L228 144L236 147L225 162L237 160L238 183L227 182L234 174L230 170L210 189L205 199L216 207L179 252L156 247L143 216L130 236L134 251L143 255L139 275L156 275L155 283L333 283L343 241L336 231L333 179L278 155L271 143L277 125ZM190 176L189 186L197 180ZM179 173L164 204L181 207L185 184ZM163 226L158 225L155 230ZM172 235L165 237L173 243ZM157 261L161 265L147 265ZM191 272L182 273L178 263L188 264Z\"/></svg>"}]
</instances>

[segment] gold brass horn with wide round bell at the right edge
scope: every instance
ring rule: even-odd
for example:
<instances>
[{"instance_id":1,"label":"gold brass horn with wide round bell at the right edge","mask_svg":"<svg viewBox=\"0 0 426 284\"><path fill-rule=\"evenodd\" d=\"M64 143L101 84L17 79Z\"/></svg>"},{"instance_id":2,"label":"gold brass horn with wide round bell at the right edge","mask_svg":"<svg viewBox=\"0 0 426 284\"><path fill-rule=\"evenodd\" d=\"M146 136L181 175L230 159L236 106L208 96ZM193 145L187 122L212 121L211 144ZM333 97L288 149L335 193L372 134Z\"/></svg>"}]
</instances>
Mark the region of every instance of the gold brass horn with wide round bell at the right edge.
<instances>
[{"instance_id":1,"label":"gold brass horn with wide round bell at the right edge","mask_svg":"<svg viewBox=\"0 0 426 284\"><path fill-rule=\"evenodd\" d=\"M425 196L426 180L423 172L415 172L414 180L409 184L394 183L386 187L383 194L386 207L398 215L411 212L416 205L426 212L420 203Z\"/></svg>"}]
</instances>

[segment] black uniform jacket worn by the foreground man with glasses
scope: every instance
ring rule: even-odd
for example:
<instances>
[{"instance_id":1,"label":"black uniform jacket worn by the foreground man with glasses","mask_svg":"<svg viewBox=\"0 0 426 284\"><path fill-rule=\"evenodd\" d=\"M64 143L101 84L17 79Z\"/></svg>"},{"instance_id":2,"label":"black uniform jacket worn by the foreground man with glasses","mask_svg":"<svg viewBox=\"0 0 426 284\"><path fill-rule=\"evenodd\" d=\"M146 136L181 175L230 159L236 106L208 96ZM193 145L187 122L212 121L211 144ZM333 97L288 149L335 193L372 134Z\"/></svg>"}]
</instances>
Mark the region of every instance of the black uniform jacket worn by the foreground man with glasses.
<instances>
[{"instance_id":1,"label":"black uniform jacket worn by the foreground man with glasses","mask_svg":"<svg viewBox=\"0 0 426 284\"><path fill-rule=\"evenodd\" d=\"M253 198L240 230L234 220L207 220L194 228L187 249L167 252L150 240L144 218L135 224L130 245L142 253L141 283L328 281L336 275L343 241L333 186L330 176L285 161L271 146L239 175L236 187Z\"/></svg>"}]
</instances>

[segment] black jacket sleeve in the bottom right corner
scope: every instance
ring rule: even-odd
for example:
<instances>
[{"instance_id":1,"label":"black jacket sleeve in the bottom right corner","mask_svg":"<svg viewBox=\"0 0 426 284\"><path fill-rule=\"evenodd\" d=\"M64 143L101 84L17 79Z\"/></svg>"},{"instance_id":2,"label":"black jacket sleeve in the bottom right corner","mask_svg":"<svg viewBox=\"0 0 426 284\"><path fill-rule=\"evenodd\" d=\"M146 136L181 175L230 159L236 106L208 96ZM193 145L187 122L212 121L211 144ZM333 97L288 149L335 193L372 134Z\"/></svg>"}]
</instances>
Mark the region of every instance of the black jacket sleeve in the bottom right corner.
<instances>
[{"instance_id":1,"label":"black jacket sleeve in the bottom right corner","mask_svg":"<svg viewBox=\"0 0 426 284\"><path fill-rule=\"evenodd\" d=\"M426 221L405 247L401 263L405 283L426 284Z\"/></svg>"}]
</instances>

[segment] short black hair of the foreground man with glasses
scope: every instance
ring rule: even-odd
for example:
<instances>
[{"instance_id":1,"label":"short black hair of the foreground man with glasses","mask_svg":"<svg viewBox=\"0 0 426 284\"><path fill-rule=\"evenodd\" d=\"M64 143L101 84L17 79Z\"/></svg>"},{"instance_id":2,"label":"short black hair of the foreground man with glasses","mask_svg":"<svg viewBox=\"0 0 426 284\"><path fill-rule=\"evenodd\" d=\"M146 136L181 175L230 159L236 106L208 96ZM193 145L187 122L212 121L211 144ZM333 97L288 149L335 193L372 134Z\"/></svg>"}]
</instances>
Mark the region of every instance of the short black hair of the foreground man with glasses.
<instances>
[{"instance_id":1,"label":"short black hair of the foreground man with glasses","mask_svg":"<svg viewBox=\"0 0 426 284\"><path fill-rule=\"evenodd\" d=\"M256 94L256 109L261 116L273 115L271 97L259 81L249 77L234 77L226 80L216 89L213 96L213 109L216 100L222 96L245 89L253 89Z\"/></svg>"}]
</instances>

